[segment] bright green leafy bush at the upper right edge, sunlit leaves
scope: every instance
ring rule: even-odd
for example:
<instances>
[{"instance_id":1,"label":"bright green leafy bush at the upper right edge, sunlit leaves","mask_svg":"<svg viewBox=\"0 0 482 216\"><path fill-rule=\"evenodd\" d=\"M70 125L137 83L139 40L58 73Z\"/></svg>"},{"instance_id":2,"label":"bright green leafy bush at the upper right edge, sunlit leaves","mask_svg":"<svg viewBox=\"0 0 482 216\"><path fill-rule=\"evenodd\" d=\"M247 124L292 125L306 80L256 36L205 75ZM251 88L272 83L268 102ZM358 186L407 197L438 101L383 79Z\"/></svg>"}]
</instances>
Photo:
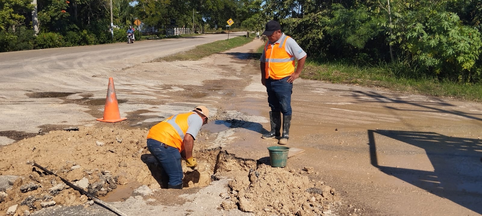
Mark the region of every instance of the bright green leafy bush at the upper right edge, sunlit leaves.
<instances>
[{"instance_id":1,"label":"bright green leafy bush at the upper right edge, sunlit leaves","mask_svg":"<svg viewBox=\"0 0 482 216\"><path fill-rule=\"evenodd\" d=\"M463 25L457 14L445 12L441 5L402 4L389 25L390 43L399 46L401 58L412 61L428 77L457 82L481 80L479 57L481 33Z\"/></svg>"}]
</instances>

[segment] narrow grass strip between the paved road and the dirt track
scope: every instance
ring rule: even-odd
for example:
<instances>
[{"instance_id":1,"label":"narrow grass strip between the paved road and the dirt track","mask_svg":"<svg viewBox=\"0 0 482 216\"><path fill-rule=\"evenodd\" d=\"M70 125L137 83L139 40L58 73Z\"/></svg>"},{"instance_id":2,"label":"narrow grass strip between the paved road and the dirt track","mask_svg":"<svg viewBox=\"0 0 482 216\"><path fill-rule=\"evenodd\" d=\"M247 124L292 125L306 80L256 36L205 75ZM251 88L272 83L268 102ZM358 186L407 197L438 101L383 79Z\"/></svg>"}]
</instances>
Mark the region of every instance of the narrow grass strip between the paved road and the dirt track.
<instances>
[{"instance_id":1,"label":"narrow grass strip between the paved road and the dirt track","mask_svg":"<svg viewBox=\"0 0 482 216\"><path fill-rule=\"evenodd\" d=\"M200 60L206 56L210 56L218 52L226 51L232 48L245 45L253 41L253 37L254 37L254 34L250 34L249 38L246 38L246 36L237 36L237 37L229 38L229 41L228 39L218 40L211 43L196 46L195 48L187 50L185 52L162 57L162 58L156 59L155 61ZM226 35L226 38L228 38L228 35Z\"/></svg>"}]
</instances>

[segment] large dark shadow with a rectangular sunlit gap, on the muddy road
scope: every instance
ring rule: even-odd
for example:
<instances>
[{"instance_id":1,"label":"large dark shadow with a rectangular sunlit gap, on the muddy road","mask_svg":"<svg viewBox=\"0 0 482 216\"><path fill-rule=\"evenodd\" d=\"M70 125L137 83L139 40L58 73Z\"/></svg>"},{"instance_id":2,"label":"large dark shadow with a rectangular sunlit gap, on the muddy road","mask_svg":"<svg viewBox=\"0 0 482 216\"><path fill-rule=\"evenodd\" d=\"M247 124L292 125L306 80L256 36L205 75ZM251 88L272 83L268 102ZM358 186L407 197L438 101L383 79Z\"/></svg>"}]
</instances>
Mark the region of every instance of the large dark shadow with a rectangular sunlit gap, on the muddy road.
<instances>
[{"instance_id":1,"label":"large dark shadow with a rectangular sunlit gap, on the muddy road","mask_svg":"<svg viewBox=\"0 0 482 216\"><path fill-rule=\"evenodd\" d=\"M377 134L424 149L434 171L380 166ZM479 139L389 130L368 130L368 139L374 167L482 214L482 142Z\"/></svg>"}]
</instances>

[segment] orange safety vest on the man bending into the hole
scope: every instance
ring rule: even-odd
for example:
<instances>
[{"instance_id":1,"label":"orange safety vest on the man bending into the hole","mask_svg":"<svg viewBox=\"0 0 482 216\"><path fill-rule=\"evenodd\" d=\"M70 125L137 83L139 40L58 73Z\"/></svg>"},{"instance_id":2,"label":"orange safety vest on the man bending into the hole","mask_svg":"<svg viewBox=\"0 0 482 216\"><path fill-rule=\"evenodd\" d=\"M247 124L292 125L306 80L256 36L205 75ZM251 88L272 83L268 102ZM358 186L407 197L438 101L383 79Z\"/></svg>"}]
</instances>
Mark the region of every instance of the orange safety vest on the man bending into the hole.
<instances>
[{"instance_id":1,"label":"orange safety vest on the man bending into the hole","mask_svg":"<svg viewBox=\"0 0 482 216\"><path fill-rule=\"evenodd\" d=\"M192 114L197 115L194 112L181 113L159 122L149 130L147 139L157 140L182 152L184 150L184 135L188 128L187 117Z\"/></svg>"}]
</instances>

